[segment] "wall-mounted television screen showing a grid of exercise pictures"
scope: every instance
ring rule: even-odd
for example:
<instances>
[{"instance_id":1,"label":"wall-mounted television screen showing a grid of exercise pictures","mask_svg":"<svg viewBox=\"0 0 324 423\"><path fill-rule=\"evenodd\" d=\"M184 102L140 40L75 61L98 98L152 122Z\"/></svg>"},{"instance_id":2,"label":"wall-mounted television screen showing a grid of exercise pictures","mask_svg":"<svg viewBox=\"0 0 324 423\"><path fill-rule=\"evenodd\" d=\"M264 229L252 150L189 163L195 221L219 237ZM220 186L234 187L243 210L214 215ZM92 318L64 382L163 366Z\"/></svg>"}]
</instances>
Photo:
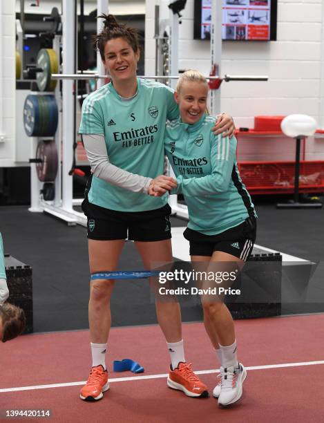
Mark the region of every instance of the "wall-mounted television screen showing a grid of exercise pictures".
<instances>
[{"instance_id":1,"label":"wall-mounted television screen showing a grid of exercise pictures","mask_svg":"<svg viewBox=\"0 0 324 423\"><path fill-rule=\"evenodd\" d=\"M195 0L194 39L210 39L212 0ZM277 0L222 0L222 39L274 41Z\"/></svg>"}]
</instances>

